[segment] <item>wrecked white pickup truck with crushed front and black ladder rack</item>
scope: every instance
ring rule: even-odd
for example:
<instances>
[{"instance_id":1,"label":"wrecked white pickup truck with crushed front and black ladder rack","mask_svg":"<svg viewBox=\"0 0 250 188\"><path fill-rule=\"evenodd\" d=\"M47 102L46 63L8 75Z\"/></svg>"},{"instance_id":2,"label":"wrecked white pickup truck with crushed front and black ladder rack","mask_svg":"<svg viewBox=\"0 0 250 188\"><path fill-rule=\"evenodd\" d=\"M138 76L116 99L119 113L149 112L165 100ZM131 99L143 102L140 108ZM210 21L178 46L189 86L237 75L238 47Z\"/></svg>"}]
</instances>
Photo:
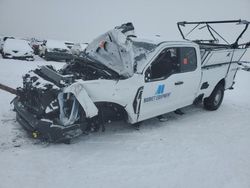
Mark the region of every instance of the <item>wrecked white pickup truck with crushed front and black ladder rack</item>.
<instances>
[{"instance_id":1,"label":"wrecked white pickup truck with crushed front and black ladder rack","mask_svg":"<svg viewBox=\"0 0 250 188\"><path fill-rule=\"evenodd\" d=\"M214 23L245 26L233 44L219 44ZM131 23L96 38L85 56L61 70L42 66L23 77L14 109L34 137L65 142L84 132L104 130L112 120L131 124L204 103L216 110L249 43L238 44L249 22L180 22L205 25L214 40L164 41L137 38Z\"/></svg>"}]
</instances>

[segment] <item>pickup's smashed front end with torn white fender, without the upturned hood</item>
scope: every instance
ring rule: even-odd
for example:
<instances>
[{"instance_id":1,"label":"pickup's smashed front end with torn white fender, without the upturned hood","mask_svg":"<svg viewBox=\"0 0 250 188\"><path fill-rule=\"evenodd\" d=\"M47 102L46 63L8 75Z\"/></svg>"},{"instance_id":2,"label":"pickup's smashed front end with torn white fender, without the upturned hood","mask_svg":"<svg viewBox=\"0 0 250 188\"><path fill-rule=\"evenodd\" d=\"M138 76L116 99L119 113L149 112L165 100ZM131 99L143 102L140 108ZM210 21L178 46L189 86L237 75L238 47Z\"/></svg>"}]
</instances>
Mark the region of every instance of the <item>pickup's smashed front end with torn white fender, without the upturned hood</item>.
<instances>
[{"instance_id":1,"label":"pickup's smashed front end with torn white fender, without the upturned hood","mask_svg":"<svg viewBox=\"0 0 250 188\"><path fill-rule=\"evenodd\" d=\"M98 110L78 83L108 79L109 75L96 73L94 67L82 62L74 62L59 71L52 66L30 71L23 76L23 87L17 89L13 100L17 121L34 138L49 142L67 142L97 127Z\"/></svg>"}]
</instances>

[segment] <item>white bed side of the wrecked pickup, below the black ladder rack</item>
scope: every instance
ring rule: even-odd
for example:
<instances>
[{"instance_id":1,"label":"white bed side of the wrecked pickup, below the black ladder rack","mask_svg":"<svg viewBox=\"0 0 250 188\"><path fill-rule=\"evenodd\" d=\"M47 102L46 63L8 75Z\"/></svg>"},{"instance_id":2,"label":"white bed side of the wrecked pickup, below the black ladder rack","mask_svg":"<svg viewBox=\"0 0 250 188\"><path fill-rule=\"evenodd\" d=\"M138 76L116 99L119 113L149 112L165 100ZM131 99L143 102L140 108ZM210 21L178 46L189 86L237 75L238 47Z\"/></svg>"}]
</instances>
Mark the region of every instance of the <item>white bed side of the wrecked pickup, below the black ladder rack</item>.
<instances>
[{"instance_id":1,"label":"white bed side of the wrecked pickup, below the black ladder rack","mask_svg":"<svg viewBox=\"0 0 250 188\"><path fill-rule=\"evenodd\" d=\"M225 79L225 89L232 88L239 69L239 61L246 49L210 49L202 59L202 80L200 94L210 96L218 80Z\"/></svg>"}]
</instances>

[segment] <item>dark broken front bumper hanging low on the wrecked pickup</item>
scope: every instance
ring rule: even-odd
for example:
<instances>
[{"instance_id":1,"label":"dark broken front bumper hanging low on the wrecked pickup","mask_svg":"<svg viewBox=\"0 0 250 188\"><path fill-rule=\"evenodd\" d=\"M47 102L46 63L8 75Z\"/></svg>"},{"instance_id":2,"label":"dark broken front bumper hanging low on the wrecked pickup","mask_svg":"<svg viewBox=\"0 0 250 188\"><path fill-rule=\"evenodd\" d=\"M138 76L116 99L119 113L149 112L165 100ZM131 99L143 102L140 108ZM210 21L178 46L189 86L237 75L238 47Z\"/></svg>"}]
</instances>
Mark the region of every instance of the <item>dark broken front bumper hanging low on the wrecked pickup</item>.
<instances>
[{"instance_id":1,"label":"dark broken front bumper hanging low on the wrecked pickup","mask_svg":"<svg viewBox=\"0 0 250 188\"><path fill-rule=\"evenodd\" d=\"M67 127L54 125L48 120L39 120L36 115L30 113L19 97L13 100L16 111L16 120L33 137L48 142L68 143L72 138L80 136L83 131L80 124L73 124Z\"/></svg>"}]
</instances>

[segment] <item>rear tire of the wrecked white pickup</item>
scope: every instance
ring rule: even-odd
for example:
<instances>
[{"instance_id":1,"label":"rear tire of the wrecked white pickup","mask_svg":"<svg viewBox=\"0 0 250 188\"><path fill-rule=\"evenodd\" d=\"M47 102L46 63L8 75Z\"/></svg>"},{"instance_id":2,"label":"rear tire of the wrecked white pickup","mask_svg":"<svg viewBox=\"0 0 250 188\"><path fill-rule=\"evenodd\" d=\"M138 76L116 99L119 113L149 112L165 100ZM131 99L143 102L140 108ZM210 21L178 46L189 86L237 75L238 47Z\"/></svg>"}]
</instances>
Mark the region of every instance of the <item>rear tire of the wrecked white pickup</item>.
<instances>
[{"instance_id":1,"label":"rear tire of the wrecked white pickup","mask_svg":"<svg viewBox=\"0 0 250 188\"><path fill-rule=\"evenodd\" d=\"M222 84L217 85L212 94L204 99L204 108L209 111L217 110L224 98L224 86Z\"/></svg>"}]
</instances>

